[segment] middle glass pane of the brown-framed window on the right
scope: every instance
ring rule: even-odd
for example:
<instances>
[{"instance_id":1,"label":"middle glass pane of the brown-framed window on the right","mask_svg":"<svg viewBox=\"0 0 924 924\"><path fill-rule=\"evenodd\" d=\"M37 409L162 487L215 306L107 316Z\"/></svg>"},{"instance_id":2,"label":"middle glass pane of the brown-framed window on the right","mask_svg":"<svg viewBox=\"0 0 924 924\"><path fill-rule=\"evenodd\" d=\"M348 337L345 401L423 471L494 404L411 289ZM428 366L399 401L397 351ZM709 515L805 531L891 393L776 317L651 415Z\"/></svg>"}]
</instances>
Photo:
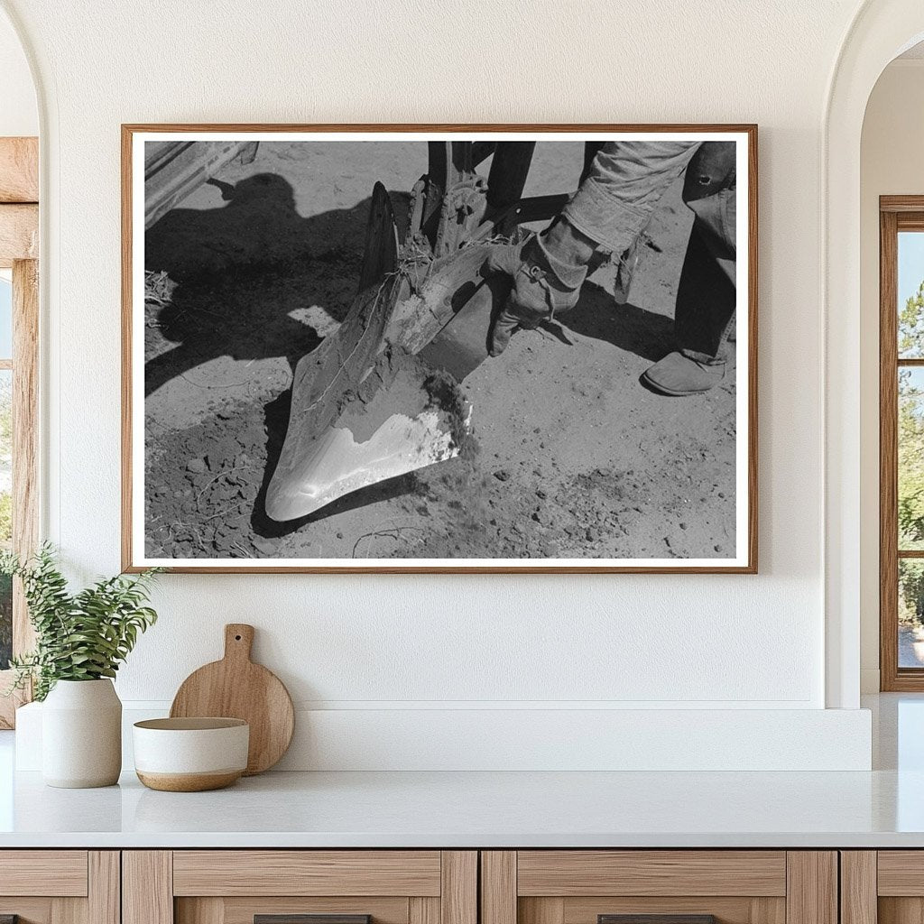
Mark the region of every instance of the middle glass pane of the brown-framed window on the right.
<instances>
[{"instance_id":1,"label":"middle glass pane of the brown-framed window on the right","mask_svg":"<svg viewBox=\"0 0 924 924\"><path fill-rule=\"evenodd\" d=\"M898 548L924 549L924 368L898 371Z\"/></svg>"}]
</instances>

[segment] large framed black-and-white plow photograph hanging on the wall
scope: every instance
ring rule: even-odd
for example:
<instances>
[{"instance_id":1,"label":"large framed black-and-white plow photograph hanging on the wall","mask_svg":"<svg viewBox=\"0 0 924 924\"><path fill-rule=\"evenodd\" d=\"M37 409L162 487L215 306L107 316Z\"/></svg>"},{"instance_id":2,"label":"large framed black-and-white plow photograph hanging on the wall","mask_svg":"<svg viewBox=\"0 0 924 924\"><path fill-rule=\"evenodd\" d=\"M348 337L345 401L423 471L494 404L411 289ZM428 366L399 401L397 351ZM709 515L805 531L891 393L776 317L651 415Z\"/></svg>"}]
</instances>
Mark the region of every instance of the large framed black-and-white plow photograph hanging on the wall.
<instances>
[{"instance_id":1,"label":"large framed black-and-white plow photograph hanging on the wall","mask_svg":"<svg viewBox=\"0 0 924 924\"><path fill-rule=\"evenodd\" d=\"M757 570L756 126L122 157L126 570Z\"/></svg>"}]
</instances>

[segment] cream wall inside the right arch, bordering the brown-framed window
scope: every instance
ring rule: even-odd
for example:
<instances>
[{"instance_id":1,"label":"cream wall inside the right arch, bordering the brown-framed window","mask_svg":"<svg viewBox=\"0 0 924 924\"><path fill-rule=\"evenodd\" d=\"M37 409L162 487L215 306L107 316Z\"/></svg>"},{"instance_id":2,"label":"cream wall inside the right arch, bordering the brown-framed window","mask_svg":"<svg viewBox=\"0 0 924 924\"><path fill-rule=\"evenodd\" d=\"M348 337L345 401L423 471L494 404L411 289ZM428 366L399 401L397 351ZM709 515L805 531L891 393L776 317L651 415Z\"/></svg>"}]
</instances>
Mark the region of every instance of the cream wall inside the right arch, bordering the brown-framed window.
<instances>
[{"instance_id":1,"label":"cream wall inside the right arch, bordering the brown-framed window","mask_svg":"<svg viewBox=\"0 0 924 924\"><path fill-rule=\"evenodd\" d=\"M879 689L879 197L924 195L924 59L894 61L869 97L861 145L861 666Z\"/></svg>"}]
</instances>

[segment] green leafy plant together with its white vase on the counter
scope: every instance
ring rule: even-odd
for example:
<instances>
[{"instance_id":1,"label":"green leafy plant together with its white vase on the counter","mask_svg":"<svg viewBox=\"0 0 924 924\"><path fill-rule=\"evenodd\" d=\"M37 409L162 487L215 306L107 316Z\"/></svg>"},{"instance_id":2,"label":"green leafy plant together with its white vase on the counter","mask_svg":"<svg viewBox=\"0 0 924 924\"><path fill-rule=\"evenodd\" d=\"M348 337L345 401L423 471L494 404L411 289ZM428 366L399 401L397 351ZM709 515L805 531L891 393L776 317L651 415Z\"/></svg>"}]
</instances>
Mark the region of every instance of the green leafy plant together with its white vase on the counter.
<instances>
[{"instance_id":1,"label":"green leafy plant together with its white vase on the counter","mask_svg":"<svg viewBox=\"0 0 924 924\"><path fill-rule=\"evenodd\" d=\"M71 593L51 545L26 562L0 553L0 573L22 581L35 628L35 649L10 666L16 675L12 688L31 683L33 698L43 701L46 784L108 786L118 780L122 703L112 678L139 633L157 619L145 604L159 570L101 578Z\"/></svg>"}]
</instances>

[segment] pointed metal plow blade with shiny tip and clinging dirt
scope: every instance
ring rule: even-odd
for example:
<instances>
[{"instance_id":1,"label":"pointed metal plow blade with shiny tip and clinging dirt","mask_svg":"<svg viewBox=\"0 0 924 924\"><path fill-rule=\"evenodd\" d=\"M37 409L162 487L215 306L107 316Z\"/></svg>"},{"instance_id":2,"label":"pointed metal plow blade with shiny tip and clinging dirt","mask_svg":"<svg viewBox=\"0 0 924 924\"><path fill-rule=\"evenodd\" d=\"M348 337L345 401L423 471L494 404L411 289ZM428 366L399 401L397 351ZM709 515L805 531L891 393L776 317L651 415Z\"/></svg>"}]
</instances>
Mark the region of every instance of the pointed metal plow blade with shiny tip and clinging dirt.
<instances>
[{"instance_id":1,"label":"pointed metal plow blade with shiny tip and clinging dirt","mask_svg":"<svg viewBox=\"0 0 924 924\"><path fill-rule=\"evenodd\" d=\"M436 285L430 298L427 286L412 296L398 270L391 202L376 184L359 296L336 333L296 367L286 440L266 493L274 520L308 516L457 456L465 442L469 413L456 381L413 355L457 310L451 293Z\"/></svg>"}]
</instances>

